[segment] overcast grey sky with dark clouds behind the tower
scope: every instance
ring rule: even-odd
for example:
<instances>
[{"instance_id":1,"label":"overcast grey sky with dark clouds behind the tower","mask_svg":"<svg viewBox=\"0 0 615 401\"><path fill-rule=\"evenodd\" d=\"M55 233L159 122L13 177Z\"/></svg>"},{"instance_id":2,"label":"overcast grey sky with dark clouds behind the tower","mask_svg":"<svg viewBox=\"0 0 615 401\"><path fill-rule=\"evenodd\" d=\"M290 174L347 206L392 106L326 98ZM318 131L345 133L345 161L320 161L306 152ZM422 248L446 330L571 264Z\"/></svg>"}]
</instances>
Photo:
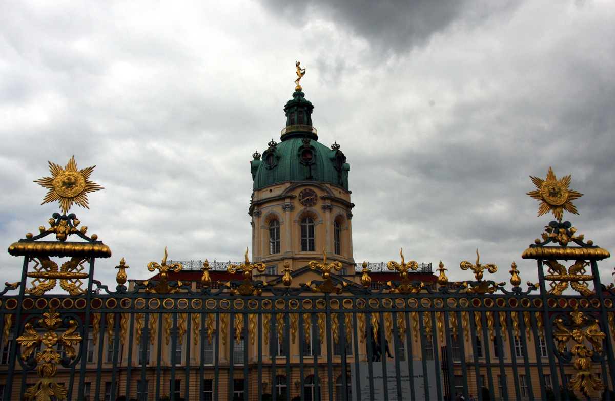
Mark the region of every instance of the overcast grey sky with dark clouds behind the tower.
<instances>
[{"instance_id":1,"label":"overcast grey sky with dark clouds behind the tower","mask_svg":"<svg viewBox=\"0 0 615 401\"><path fill-rule=\"evenodd\" d=\"M289 4L290 3L290 4ZM47 161L97 165L111 247L95 278L241 260L250 160L285 125L295 61L319 140L351 165L357 262L516 261L537 217L529 175L572 175L585 239L615 252L615 2L0 1L0 244L47 226ZM0 253L0 279L22 260ZM601 264L613 282L614 263ZM510 284L509 284L510 287Z\"/></svg>"}]
</instances>

